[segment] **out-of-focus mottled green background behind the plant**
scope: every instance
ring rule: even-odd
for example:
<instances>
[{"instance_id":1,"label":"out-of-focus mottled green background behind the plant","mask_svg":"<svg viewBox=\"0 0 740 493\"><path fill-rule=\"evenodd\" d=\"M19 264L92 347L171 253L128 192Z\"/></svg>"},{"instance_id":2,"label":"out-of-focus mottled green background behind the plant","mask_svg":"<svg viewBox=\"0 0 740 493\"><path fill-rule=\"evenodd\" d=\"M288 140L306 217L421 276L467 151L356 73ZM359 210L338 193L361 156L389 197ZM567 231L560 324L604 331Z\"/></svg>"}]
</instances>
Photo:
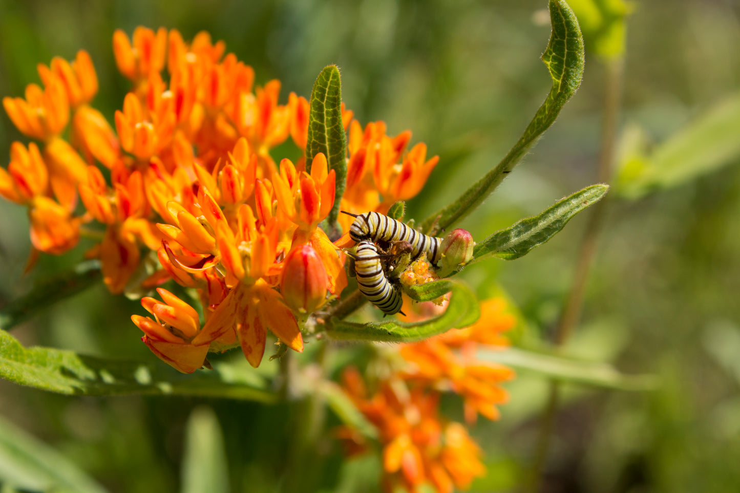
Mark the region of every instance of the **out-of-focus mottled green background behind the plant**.
<instances>
[{"instance_id":1,"label":"out-of-focus mottled green background behind the plant","mask_svg":"<svg viewBox=\"0 0 740 493\"><path fill-rule=\"evenodd\" d=\"M186 39L207 30L255 68L258 84L279 78L284 98L290 91L308 97L320 70L335 63L343 101L360 121L382 119L390 134L410 129L412 142L440 155L409 204L411 217L425 218L499 161L548 93L539 60L550 34L546 7L545 0L0 0L0 94L21 95L38 81L37 63L85 49L100 79L95 106L112 121L128 87L115 70L112 33L138 25L175 28ZM605 70L588 48L579 92L460 225L475 238L596 181ZM634 1L626 53L620 129L637 124L659 144L740 90L740 4ZM740 127L736 133L740 139ZM24 140L2 112L0 156L16 139ZM564 351L659 383L650 392L568 386L542 491L740 491L740 158L724 164L608 204L585 310ZM551 337L586 214L525 258L488 261L462 275L484 295L501 286L522 312L528 341ZM24 209L0 202L0 303L69 269L83 250L44 258L23 275L29 249ZM137 301L97 287L39 312L13 335L25 345L152 360L129 320L140 311ZM507 388L502 418L473 429L488 477L471 491L516 491L531 463L548 381L520 372ZM222 451L186 456L193 409L218 418ZM284 451L303 426L290 406L69 398L0 381L0 415L0 440L10 440L8 429L23 430L111 492L179 491L188 460L223 463L234 492L379 487L377 460L343 465L338 450L317 464L313 482L286 480ZM0 472L3 463L0 457Z\"/></svg>"}]
</instances>

